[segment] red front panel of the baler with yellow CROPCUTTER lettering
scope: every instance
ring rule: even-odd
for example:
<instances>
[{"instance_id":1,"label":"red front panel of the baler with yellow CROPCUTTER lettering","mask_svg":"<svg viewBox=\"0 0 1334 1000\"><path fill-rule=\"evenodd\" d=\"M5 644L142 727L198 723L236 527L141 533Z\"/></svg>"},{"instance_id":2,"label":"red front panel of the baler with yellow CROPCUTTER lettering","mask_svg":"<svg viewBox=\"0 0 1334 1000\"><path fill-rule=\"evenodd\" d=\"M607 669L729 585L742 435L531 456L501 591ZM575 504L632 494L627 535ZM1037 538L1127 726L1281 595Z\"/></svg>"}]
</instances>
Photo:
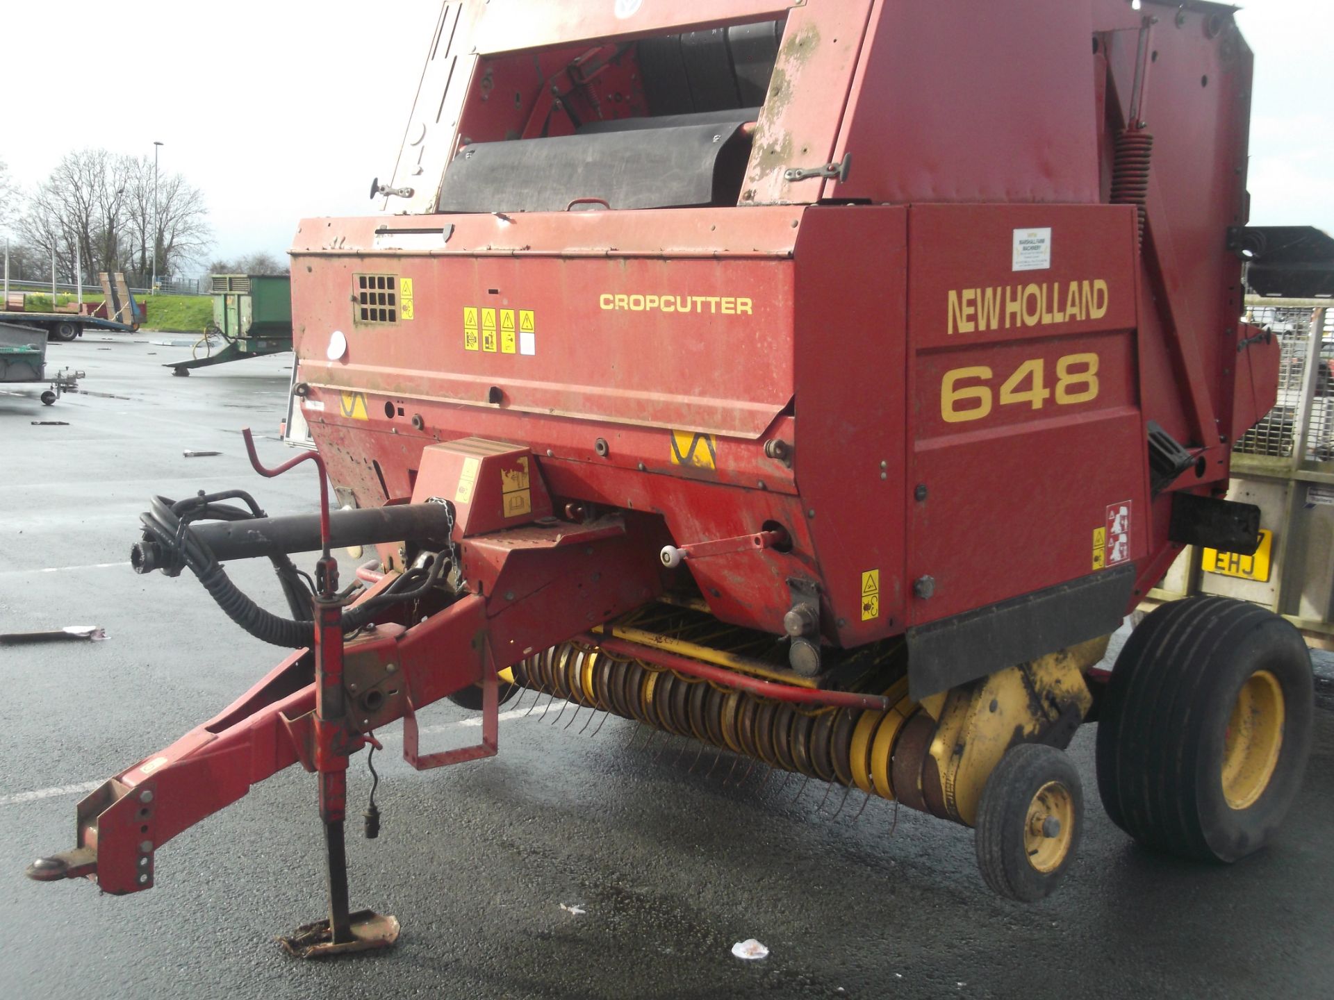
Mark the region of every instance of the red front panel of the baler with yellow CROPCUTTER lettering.
<instances>
[{"instance_id":1,"label":"red front panel of the baler with yellow CROPCUTTER lettering","mask_svg":"<svg viewBox=\"0 0 1334 1000\"><path fill-rule=\"evenodd\" d=\"M412 281L414 317L358 323L364 272ZM303 337L303 380L339 391L750 439L792 396L790 273L772 261L364 256L321 261L309 285L297 308L348 351L321 363Z\"/></svg>"}]
</instances>

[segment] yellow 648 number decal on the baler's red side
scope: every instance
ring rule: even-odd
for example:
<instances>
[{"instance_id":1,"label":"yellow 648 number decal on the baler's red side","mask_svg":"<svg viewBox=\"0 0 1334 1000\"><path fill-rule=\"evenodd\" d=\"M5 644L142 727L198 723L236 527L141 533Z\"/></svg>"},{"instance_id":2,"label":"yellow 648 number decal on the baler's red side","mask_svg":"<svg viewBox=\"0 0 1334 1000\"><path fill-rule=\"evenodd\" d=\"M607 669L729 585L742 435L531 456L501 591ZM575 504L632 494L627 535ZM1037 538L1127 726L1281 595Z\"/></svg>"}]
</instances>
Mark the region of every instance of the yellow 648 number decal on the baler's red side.
<instances>
[{"instance_id":1,"label":"yellow 648 number decal on the baler's red side","mask_svg":"<svg viewBox=\"0 0 1334 1000\"><path fill-rule=\"evenodd\" d=\"M998 388L1000 376L984 364L954 368L940 379L940 419L947 424L982 420L998 403L1042 409L1049 401L1067 407L1098 399L1098 355L1066 355L1054 368L1055 381L1049 387L1046 361L1023 361Z\"/></svg>"}]
</instances>

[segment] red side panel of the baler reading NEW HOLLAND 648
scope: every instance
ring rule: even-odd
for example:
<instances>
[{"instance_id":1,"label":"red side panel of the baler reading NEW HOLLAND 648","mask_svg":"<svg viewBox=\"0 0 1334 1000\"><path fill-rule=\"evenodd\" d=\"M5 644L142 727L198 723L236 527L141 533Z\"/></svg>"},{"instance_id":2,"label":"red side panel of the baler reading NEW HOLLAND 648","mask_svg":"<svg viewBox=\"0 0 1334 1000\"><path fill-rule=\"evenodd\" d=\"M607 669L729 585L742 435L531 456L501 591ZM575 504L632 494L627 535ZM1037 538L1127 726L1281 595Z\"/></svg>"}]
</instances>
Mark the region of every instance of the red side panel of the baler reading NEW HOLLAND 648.
<instances>
[{"instance_id":1,"label":"red side panel of the baler reading NEW HOLLAND 648","mask_svg":"<svg viewBox=\"0 0 1334 1000\"><path fill-rule=\"evenodd\" d=\"M1134 227L1122 207L912 208L907 579L930 583L911 624L1147 553ZM1033 228L1049 267L1017 271Z\"/></svg>"}]
</instances>

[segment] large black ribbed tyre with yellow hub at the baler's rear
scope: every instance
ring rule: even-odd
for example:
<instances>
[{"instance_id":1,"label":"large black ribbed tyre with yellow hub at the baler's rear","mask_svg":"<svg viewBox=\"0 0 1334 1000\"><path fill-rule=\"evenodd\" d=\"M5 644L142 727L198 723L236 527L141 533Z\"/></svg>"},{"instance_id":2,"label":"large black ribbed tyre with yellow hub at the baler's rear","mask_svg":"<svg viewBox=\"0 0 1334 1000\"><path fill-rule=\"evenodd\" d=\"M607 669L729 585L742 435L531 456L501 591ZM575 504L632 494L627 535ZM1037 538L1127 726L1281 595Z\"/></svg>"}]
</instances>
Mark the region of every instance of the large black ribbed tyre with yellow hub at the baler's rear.
<instances>
[{"instance_id":1,"label":"large black ribbed tyre with yellow hub at the baler's rear","mask_svg":"<svg viewBox=\"0 0 1334 1000\"><path fill-rule=\"evenodd\" d=\"M1302 785L1314 708L1301 633L1227 597L1165 604L1130 636L1098 723L1098 791L1146 847L1237 861Z\"/></svg>"}]
</instances>

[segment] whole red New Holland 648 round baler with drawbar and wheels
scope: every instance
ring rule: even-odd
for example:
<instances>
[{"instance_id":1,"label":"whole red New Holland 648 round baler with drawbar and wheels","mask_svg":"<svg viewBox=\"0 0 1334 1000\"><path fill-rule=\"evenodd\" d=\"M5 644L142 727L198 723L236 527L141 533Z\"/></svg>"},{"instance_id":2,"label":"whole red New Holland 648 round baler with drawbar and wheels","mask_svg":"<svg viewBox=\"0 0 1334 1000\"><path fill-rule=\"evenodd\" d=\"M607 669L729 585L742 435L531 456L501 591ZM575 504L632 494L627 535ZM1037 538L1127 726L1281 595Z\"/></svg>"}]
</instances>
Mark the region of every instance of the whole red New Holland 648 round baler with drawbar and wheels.
<instances>
[{"instance_id":1,"label":"whole red New Holland 648 round baler with drawbar and wheels","mask_svg":"<svg viewBox=\"0 0 1334 1000\"><path fill-rule=\"evenodd\" d=\"M388 943L348 913L350 755L399 719L419 768L491 755L519 688L975 827L1022 900L1075 851L1098 717L1122 828L1253 852L1307 752L1295 632L1182 601L1094 669L1183 544L1258 540L1223 499L1278 357L1238 320L1250 75L1197 1L444 4L394 213L292 249L340 509L159 497L133 553L293 652L29 875L148 888L301 763L331 899L289 947ZM288 553L320 545L312 595ZM334 545L378 547L364 587ZM249 556L291 617L227 580ZM480 747L419 751L442 697Z\"/></svg>"}]
</instances>

